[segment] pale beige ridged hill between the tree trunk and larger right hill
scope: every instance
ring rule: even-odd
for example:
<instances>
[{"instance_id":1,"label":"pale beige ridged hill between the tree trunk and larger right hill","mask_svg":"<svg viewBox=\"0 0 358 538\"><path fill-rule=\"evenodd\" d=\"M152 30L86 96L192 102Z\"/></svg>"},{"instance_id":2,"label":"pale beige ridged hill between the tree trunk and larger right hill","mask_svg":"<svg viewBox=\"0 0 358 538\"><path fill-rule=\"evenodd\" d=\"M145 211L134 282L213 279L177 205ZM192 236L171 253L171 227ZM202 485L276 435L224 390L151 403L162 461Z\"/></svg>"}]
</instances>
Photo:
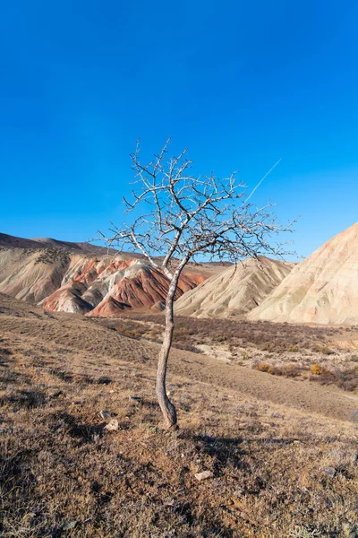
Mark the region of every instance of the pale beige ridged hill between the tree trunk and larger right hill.
<instances>
[{"instance_id":1,"label":"pale beige ridged hill between the tree trunk and larger right hill","mask_svg":"<svg viewBox=\"0 0 358 538\"><path fill-rule=\"evenodd\" d=\"M290 273L293 264L260 256L228 267L175 302L179 316L243 316L257 307Z\"/></svg>"}]
</instances>

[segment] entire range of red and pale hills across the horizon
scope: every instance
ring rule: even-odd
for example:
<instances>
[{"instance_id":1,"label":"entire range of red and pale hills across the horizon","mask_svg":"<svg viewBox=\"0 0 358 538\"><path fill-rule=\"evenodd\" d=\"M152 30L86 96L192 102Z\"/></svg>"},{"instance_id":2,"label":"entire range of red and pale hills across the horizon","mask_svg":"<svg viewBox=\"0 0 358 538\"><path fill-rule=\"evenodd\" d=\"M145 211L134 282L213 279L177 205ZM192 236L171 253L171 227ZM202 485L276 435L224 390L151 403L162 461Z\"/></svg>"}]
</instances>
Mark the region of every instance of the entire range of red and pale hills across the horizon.
<instances>
[{"instance_id":1,"label":"entire range of red and pale hills across the horizon","mask_svg":"<svg viewBox=\"0 0 358 538\"><path fill-rule=\"evenodd\" d=\"M85 242L0 234L0 291L48 310L98 317L160 310L168 286L166 275L144 256ZM358 325L358 223L297 265L263 256L236 266L189 264L175 313Z\"/></svg>"}]
</instances>

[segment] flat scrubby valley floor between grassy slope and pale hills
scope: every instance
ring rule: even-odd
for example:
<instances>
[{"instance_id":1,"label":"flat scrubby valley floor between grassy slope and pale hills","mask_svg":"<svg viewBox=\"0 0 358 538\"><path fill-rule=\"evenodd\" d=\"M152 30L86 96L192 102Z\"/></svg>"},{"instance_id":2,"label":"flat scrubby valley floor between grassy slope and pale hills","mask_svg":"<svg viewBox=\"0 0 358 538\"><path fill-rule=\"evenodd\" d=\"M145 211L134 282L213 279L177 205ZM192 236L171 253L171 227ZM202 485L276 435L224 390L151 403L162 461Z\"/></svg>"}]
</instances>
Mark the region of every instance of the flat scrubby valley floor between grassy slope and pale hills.
<instances>
[{"instance_id":1,"label":"flat scrubby valley floor between grassy slope and pale hills","mask_svg":"<svg viewBox=\"0 0 358 538\"><path fill-rule=\"evenodd\" d=\"M99 321L133 338L161 342L163 315ZM301 377L358 391L358 328L177 317L177 349L205 353L274 376Z\"/></svg>"}]
</instances>

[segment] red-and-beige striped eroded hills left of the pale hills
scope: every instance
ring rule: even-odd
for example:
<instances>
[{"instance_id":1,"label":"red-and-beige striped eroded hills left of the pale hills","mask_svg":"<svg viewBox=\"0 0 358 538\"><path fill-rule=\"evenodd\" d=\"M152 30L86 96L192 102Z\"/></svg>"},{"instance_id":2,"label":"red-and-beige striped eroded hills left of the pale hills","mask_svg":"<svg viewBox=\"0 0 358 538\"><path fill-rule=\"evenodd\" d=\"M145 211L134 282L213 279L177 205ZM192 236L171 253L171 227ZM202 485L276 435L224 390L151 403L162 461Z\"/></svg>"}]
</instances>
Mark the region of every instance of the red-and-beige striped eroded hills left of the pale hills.
<instances>
[{"instance_id":1,"label":"red-and-beige striped eroded hills left of the pale hills","mask_svg":"<svg viewBox=\"0 0 358 538\"><path fill-rule=\"evenodd\" d=\"M143 256L86 243L21 239L2 234L0 291L50 311L116 316L166 299L169 281ZM188 265L177 297L222 271L222 264Z\"/></svg>"}]
</instances>

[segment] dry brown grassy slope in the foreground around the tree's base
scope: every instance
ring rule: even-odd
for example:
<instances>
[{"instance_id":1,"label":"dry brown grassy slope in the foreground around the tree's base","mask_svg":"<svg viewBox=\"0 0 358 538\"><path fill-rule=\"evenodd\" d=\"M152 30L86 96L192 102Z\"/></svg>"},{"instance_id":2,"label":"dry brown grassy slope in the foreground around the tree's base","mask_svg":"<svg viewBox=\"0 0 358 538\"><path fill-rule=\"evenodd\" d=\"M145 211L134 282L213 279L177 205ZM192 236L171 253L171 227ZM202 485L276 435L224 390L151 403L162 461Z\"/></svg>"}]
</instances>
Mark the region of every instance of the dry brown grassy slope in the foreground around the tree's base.
<instances>
[{"instance_id":1,"label":"dry brown grassy slope in the foreground around the tree's base","mask_svg":"<svg viewBox=\"0 0 358 538\"><path fill-rule=\"evenodd\" d=\"M169 389L181 429L166 432L154 393L158 344L102 324L0 295L1 536L358 535L354 392L174 350ZM301 352L296 330L287 334L300 351L283 356ZM304 334L321 344L321 334ZM101 410L118 430L104 429ZM213 477L198 482L203 470Z\"/></svg>"}]
</instances>

